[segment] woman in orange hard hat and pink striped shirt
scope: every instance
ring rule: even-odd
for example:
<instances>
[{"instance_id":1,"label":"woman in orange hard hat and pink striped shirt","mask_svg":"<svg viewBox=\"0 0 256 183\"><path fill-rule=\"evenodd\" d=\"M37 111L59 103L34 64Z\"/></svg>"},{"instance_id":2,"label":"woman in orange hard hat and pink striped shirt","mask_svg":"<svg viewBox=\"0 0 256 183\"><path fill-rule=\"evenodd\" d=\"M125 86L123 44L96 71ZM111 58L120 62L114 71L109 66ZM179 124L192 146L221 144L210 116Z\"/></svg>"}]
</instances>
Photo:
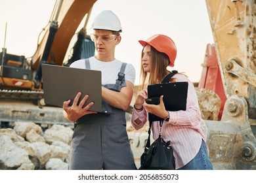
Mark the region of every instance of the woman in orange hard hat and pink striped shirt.
<instances>
[{"instance_id":1,"label":"woman in orange hard hat and pink striped shirt","mask_svg":"<svg viewBox=\"0 0 256 183\"><path fill-rule=\"evenodd\" d=\"M201 114L198 97L194 85L181 73L174 73L169 82L188 82L186 110L168 111L163 103L163 95L159 105L147 104L147 86L159 84L173 67L177 56L175 42L165 35L153 35L146 41L139 41L143 46L141 55L140 78L141 91L134 104L131 123L140 129L147 122L147 112L163 119L161 137L165 142L171 141L175 157L175 169L213 169L209 159L209 150L205 135L200 128ZM175 96L173 96L175 97ZM160 134L160 121L152 122L153 138Z\"/></svg>"}]
</instances>

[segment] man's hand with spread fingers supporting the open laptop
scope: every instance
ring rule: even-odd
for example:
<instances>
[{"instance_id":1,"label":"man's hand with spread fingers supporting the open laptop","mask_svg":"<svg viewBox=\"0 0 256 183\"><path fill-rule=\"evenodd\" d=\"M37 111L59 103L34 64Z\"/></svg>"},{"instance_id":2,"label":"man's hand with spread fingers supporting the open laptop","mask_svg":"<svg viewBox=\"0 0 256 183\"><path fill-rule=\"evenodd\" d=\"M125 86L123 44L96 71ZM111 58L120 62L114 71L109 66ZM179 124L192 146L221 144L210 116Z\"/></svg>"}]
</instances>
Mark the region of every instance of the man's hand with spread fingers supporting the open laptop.
<instances>
[{"instance_id":1,"label":"man's hand with spread fingers supporting the open laptop","mask_svg":"<svg viewBox=\"0 0 256 183\"><path fill-rule=\"evenodd\" d=\"M83 107L83 105L89 98L89 95L85 95L85 97L83 97L83 99L80 101L79 105L77 105L79 98L81 97L81 94L82 94L81 92L77 93L72 106L69 106L71 100L64 101L64 103L63 103L64 116L72 122L77 121L79 118L81 118L82 116L84 116L86 114L96 114L97 113L95 111L89 110L89 108L94 105L93 102L91 102L87 106Z\"/></svg>"}]
</instances>

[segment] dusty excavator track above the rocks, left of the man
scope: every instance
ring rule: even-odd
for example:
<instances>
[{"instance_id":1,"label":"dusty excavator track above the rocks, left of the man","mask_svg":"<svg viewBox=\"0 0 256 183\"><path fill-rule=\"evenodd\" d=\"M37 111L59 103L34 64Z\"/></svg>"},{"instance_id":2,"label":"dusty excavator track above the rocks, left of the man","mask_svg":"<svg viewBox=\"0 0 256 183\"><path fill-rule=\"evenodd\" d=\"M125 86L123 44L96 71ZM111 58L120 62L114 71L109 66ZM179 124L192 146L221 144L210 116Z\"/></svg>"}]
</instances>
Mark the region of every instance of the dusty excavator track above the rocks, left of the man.
<instances>
[{"instance_id":1,"label":"dusty excavator track above the rocks, left of the man","mask_svg":"<svg viewBox=\"0 0 256 183\"><path fill-rule=\"evenodd\" d=\"M62 124L73 127L63 116L61 107L41 105L43 91L0 90L0 128L13 122L34 122L41 127Z\"/></svg>"}]
</instances>

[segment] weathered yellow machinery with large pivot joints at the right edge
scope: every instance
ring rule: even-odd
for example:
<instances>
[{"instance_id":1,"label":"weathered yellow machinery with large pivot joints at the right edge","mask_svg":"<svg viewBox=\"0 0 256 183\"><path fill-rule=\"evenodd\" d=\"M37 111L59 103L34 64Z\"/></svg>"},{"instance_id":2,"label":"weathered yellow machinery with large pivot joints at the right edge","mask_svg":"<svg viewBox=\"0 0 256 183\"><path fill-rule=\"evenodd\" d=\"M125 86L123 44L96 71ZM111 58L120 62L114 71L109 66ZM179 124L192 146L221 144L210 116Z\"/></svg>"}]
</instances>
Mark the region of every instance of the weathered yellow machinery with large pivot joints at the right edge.
<instances>
[{"instance_id":1,"label":"weathered yellow machinery with large pivot joints at the right edge","mask_svg":"<svg viewBox=\"0 0 256 183\"><path fill-rule=\"evenodd\" d=\"M206 67L199 86L224 91L221 120L204 123L211 161L215 169L256 169L256 2L205 2L219 67Z\"/></svg>"}]
</instances>

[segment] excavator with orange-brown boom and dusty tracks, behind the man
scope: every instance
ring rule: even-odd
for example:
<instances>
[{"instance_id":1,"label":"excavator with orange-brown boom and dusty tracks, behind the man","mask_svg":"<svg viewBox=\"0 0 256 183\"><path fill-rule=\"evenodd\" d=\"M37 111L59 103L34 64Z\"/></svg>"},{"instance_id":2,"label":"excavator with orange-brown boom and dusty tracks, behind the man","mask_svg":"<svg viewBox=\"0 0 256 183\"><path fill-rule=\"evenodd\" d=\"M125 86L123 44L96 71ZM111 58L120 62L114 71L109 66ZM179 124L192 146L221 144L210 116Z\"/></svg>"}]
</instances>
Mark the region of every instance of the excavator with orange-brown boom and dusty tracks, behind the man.
<instances>
[{"instance_id":1,"label":"excavator with orange-brown boom and dusty tracks, behind the man","mask_svg":"<svg viewBox=\"0 0 256 183\"><path fill-rule=\"evenodd\" d=\"M87 21L96 0L56 1L45 35L37 44L32 57L0 52L0 124L36 122L41 125L68 124L62 110L46 107L43 100L41 64L69 66L73 61L89 58L95 53L95 44L86 32ZM77 33L73 54L66 63L64 57L77 27L85 18L85 25Z\"/></svg>"}]
</instances>

